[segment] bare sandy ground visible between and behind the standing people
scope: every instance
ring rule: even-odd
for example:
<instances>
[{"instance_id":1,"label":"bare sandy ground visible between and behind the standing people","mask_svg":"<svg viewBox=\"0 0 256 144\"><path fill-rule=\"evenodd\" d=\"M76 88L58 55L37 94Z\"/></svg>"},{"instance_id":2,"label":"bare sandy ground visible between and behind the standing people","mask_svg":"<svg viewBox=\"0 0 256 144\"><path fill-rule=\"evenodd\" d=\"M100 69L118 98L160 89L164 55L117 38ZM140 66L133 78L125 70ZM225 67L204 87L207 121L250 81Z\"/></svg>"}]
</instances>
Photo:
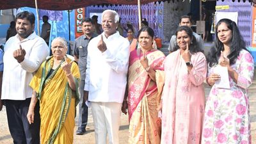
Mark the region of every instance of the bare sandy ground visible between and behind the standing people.
<instances>
[{"instance_id":1,"label":"bare sandy ground visible between and behind the standing people","mask_svg":"<svg viewBox=\"0 0 256 144\"><path fill-rule=\"evenodd\" d=\"M256 73L256 72L255 72ZM208 95L210 91L209 86L205 84L205 95ZM251 115L251 124L252 124L252 144L256 144L256 74L254 74L253 84L249 88L250 92L250 115ZM77 109L78 110L78 109ZM122 114L121 116L121 125L119 130L119 138L120 144L125 144L128 141L128 116ZM77 124L77 118L76 118ZM77 125L74 129L76 132ZM12 144L12 136L8 130L7 118L6 118L6 109L3 108L0 111L0 143L4 144ZM93 120L92 120L92 111L89 109L89 116L88 116L88 125L86 127L86 133L82 136L74 134L74 144L93 144L95 143L94 138L94 129L93 129Z\"/></svg>"}]
</instances>

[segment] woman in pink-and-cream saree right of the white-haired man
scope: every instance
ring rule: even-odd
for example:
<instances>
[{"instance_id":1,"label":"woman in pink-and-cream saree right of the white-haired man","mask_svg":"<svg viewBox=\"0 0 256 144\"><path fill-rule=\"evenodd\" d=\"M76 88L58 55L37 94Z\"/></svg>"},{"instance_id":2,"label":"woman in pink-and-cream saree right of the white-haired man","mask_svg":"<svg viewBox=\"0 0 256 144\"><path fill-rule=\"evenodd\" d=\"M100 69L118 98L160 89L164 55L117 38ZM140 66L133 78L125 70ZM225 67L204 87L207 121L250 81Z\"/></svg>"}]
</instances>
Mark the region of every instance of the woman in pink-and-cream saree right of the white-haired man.
<instances>
[{"instance_id":1,"label":"woman in pink-and-cream saree right of the white-haired man","mask_svg":"<svg viewBox=\"0 0 256 144\"><path fill-rule=\"evenodd\" d=\"M161 119L157 106L164 84L164 54L152 48L154 31L141 28L138 32L141 49L132 51L128 77L128 143L160 143ZM124 99L124 106L127 104Z\"/></svg>"}]
</instances>

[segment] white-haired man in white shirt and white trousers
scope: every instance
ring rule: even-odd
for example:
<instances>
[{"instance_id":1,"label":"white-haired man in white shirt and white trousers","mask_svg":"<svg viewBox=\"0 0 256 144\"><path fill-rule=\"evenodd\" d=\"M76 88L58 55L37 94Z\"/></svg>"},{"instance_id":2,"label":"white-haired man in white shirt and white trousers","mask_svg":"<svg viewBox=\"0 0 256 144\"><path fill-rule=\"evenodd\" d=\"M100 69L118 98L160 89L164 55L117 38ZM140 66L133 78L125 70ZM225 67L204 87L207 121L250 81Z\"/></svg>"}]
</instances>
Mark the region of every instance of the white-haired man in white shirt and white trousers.
<instances>
[{"instance_id":1,"label":"white-haired man in white shirt and white trousers","mask_svg":"<svg viewBox=\"0 0 256 144\"><path fill-rule=\"evenodd\" d=\"M96 143L118 144L118 130L129 63L129 41L116 28L119 15L102 13L104 32L88 44L84 100L92 102ZM89 92L89 93L88 93ZM88 95L89 94L89 95Z\"/></svg>"}]
</instances>

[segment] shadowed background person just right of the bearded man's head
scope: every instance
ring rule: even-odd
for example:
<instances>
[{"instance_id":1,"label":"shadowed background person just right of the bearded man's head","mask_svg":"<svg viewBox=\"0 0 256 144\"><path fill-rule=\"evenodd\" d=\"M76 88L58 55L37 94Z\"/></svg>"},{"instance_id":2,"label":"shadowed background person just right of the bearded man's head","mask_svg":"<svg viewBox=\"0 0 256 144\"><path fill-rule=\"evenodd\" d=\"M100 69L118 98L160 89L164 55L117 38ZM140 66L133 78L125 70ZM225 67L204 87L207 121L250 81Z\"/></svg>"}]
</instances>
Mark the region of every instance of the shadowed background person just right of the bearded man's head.
<instances>
[{"instance_id":1,"label":"shadowed background person just right of the bearded man's head","mask_svg":"<svg viewBox=\"0 0 256 144\"><path fill-rule=\"evenodd\" d=\"M47 15L43 16L43 22L42 25L42 31L41 31L41 37L44 38L47 45L49 45L49 38L51 33L51 24L48 22L49 17Z\"/></svg>"}]
</instances>

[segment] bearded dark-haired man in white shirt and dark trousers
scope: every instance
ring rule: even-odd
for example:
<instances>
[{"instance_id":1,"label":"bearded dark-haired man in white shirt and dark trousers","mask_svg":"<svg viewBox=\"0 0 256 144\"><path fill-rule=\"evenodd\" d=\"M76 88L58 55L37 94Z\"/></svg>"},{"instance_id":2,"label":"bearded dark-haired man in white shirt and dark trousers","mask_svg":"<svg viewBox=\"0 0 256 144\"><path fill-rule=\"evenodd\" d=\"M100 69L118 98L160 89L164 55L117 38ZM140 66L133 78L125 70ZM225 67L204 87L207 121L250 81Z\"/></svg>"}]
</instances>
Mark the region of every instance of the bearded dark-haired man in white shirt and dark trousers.
<instances>
[{"instance_id":1,"label":"bearded dark-haired man in white shirt and dark trousers","mask_svg":"<svg viewBox=\"0 0 256 144\"><path fill-rule=\"evenodd\" d=\"M39 104L35 107L34 123L29 125L27 113L32 96L29 83L49 54L43 38L37 36L35 15L20 12L16 16L17 35L4 45L3 86L1 99L6 106L8 126L14 144L40 143Z\"/></svg>"}]
</instances>

